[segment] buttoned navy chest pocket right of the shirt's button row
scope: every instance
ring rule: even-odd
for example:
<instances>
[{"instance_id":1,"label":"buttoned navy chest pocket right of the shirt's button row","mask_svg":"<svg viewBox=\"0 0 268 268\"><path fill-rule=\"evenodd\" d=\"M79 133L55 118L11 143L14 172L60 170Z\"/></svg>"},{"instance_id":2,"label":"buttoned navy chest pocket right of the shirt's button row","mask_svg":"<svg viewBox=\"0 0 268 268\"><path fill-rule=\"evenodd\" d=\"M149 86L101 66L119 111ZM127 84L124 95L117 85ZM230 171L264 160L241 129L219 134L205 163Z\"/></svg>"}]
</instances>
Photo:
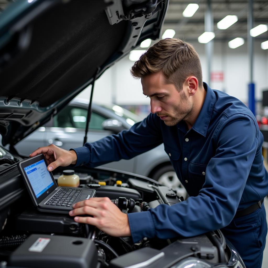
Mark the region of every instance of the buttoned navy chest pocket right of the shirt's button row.
<instances>
[{"instance_id":1,"label":"buttoned navy chest pocket right of the shirt's button row","mask_svg":"<svg viewBox=\"0 0 268 268\"><path fill-rule=\"evenodd\" d=\"M202 189L205 178L206 178L206 168L207 165L197 164L190 162L189 164L189 178L194 185L193 188L193 196L197 196L199 191Z\"/></svg>"}]
</instances>

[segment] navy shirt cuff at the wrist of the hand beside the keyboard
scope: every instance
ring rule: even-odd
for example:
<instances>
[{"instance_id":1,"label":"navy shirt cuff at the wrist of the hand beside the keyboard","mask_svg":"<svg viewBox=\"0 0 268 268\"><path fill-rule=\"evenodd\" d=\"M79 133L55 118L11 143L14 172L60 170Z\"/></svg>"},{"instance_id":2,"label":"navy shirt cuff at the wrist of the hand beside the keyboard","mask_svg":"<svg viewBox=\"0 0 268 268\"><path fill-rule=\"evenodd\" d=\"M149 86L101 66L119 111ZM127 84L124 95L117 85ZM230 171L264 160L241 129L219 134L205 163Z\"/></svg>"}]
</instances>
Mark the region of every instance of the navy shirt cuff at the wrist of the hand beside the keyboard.
<instances>
[{"instance_id":1,"label":"navy shirt cuff at the wrist of the hand beside the keyboard","mask_svg":"<svg viewBox=\"0 0 268 268\"><path fill-rule=\"evenodd\" d=\"M133 243L139 242L144 237L155 237L155 226L150 211L128 214L128 223Z\"/></svg>"}]
</instances>

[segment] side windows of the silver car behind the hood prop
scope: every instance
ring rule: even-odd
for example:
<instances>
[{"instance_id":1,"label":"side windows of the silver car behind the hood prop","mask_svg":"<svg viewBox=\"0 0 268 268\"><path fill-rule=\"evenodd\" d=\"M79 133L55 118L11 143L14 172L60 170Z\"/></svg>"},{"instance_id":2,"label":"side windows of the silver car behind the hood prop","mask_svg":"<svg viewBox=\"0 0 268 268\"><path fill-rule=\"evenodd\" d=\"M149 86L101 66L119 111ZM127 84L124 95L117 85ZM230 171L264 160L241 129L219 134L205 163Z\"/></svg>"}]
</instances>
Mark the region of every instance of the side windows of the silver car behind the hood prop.
<instances>
[{"instance_id":1,"label":"side windows of the silver car behind the hood prop","mask_svg":"<svg viewBox=\"0 0 268 268\"><path fill-rule=\"evenodd\" d=\"M92 111L89 129L102 130L102 122L107 118ZM59 128L85 129L87 110L80 107L67 106L54 117L54 126Z\"/></svg>"}]
</instances>

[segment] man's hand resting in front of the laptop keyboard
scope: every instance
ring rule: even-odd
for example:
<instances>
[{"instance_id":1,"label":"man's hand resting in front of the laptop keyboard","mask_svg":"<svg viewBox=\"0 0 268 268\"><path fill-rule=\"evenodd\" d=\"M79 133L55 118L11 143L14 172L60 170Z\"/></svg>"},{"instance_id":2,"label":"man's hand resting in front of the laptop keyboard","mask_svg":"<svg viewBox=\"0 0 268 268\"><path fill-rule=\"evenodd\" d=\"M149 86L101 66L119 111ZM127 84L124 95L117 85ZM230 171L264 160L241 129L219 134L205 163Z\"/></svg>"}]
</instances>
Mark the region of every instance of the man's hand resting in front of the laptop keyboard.
<instances>
[{"instance_id":1,"label":"man's hand resting in front of the laptop keyboard","mask_svg":"<svg viewBox=\"0 0 268 268\"><path fill-rule=\"evenodd\" d=\"M121 212L108 197L94 197L73 205L70 216L92 215L93 217L75 217L76 222L91 224L111 236L130 236L128 216Z\"/></svg>"}]
</instances>

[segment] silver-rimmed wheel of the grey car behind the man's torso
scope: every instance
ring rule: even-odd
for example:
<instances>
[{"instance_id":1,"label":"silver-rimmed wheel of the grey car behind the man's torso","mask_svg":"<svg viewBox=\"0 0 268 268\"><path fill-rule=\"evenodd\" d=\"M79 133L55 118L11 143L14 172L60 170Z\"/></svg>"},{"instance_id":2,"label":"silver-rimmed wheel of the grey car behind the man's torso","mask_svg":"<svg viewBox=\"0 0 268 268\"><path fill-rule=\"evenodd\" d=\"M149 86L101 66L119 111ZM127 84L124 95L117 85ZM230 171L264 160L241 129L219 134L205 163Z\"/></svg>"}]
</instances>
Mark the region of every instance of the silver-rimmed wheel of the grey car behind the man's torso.
<instances>
[{"instance_id":1,"label":"silver-rimmed wheel of the grey car behind the man's torso","mask_svg":"<svg viewBox=\"0 0 268 268\"><path fill-rule=\"evenodd\" d=\"M159 168L153 175L152 179L159 183L168 186L169 188L175 189L178 196L183 196L186 199L187 192L184 186L178 179L176 172L172 165L163 166Z\"/></svg>"}]
</instances>

